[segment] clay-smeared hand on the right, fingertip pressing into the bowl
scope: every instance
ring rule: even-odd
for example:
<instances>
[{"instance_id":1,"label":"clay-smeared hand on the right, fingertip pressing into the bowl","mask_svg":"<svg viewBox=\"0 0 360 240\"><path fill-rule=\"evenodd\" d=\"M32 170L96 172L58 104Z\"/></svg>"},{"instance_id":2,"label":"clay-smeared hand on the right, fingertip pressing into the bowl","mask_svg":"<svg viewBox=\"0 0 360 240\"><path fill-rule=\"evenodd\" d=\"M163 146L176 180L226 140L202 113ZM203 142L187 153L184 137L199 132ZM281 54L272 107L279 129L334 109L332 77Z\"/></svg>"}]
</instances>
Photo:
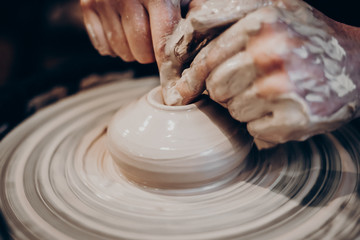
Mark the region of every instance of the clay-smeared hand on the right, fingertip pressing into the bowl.
<instances>
[{"instance_id":1,"label":"clay-smeared hand on the right, fingertip pressing into the bowl","mask_svg":"<svg viewBox=\"0 0 360 240\"><path fill-rule=\"evenodd\" d=\"M238 11L230 27L227 20L213 24L226 27L218 36L209 28L194 31L203 21L198 17L183 23L191 25L188 33L175 31L168 43L175 51L168 51L171 61L161 72L167 104L187 104L206 88L235 119L248 123L259 148L304 140L359 115L360 46L350 34L354 29L299 0L238 3L246 11ZM204 46L194 50L195 58L189 54L194 42Z\"/></svg>"}]
</instances>

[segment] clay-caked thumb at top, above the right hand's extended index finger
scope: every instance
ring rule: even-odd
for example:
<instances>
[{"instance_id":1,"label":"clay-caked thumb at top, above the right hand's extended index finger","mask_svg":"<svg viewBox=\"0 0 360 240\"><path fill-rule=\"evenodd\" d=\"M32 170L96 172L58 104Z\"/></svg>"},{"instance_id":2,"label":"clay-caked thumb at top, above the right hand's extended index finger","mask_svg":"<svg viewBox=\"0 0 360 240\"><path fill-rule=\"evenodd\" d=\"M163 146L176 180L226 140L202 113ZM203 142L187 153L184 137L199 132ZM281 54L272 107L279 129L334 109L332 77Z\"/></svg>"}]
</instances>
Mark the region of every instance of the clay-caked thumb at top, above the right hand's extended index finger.
<instances>
[{"instance_id":1,"label":"clay-caked thumb at top, above the right hand's extended index finger","mask_svg":"<svg viewBox=\"0 0 360 240\"><path fill-rule=\"evenodd\" d=\"M169 54L180 63L191 61L199 50L231 24L271 0L193 0L186 19L171 36Z\"/></svg>"}]
</instances>

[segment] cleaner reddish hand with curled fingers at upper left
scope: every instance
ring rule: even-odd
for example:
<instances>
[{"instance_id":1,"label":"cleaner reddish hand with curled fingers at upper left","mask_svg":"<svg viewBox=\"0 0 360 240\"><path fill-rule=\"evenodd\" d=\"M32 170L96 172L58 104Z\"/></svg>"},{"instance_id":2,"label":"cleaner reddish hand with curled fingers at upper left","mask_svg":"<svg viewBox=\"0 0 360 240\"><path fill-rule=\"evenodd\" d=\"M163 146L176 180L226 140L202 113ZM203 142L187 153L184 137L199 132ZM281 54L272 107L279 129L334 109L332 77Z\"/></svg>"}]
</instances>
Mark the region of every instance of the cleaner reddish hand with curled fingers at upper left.
<instances>
[{"instance_id":1,"label":"cleaner reddish hand with curled fingers at upper left","mask_svg":"<svg viewBox=\"0 0 360 240\"><path fill-rule=\"evenodd\" d=\"M161 62L165 38L181 18L181 0L81 0L85 26L102 55ZM155 53L154 53L155 52Z\"/></svg>"}]
</instances>

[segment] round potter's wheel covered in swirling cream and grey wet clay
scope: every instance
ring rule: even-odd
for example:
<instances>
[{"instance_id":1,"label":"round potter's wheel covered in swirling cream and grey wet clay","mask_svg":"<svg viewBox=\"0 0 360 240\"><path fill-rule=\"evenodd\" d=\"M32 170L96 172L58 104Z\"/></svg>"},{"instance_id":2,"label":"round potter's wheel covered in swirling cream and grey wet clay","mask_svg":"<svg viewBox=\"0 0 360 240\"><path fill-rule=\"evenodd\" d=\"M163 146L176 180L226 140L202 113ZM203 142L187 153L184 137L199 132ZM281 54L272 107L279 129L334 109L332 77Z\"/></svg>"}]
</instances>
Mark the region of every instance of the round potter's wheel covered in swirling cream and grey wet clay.
<instances>
[{"instance_id":1,"label":"round potter's wheel covered in swirling cream and grey wet clay","mask_svg":"<svg viewBox=\"0 0 360 240\"><path fill-rule=\"evenodd\" d=\"M360 134L255 149L220 189L176 195L126 180L105 147L124 104L158 85L124 80L35 114L0 145L1 209L16 239L355 239Z\"/></svg>"}]
</instances>

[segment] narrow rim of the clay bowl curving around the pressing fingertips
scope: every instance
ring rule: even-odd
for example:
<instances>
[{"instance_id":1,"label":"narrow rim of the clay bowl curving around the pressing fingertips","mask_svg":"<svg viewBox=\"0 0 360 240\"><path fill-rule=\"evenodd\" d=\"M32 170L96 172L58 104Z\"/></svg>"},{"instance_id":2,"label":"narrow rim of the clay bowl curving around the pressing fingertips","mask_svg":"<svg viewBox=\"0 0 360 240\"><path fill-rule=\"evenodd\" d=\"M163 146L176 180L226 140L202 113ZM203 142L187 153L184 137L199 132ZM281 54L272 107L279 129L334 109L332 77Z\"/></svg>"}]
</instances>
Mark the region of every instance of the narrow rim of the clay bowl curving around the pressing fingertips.
<instances>
[{"instance_id":1,"label":"narrow rim of the clay bowl curving around the pressing fingertips","mask_svg":"<svg viewBox=\"0 0 360 240\"><path fill-rule=\"evenodd\" d=\"M193 108L199 107L204 101L204 98L201 98L200 100L187 104L182 106L168 106L165 105L163 102L162 94L161 94L161 86L158 86L154 89L152 89L146 96L146 100L155 108L165 110L165 111L184 111L184 110L190 110Z\"/></svg>"}]
</instances>

